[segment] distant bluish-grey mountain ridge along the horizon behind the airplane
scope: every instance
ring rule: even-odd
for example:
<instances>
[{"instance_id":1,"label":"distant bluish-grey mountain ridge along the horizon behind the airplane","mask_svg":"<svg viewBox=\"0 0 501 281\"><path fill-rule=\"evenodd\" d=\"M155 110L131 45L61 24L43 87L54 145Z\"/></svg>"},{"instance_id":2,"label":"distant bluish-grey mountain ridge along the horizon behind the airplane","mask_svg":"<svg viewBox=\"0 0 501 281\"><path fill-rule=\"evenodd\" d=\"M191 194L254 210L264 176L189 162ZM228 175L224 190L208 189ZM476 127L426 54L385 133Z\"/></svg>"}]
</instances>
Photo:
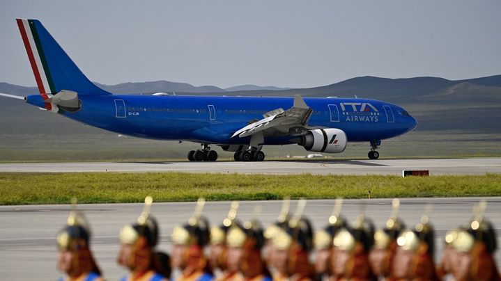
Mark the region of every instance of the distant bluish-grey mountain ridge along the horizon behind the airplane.
<instances>
[{"instance_id":1,"label":"distant bluish-grey mountain ridge along the horizon behind the airplane","mask_svg":"<svg viewBox=\"0 0 501 281\"><path fill-rule=\"evenodd\" d=\"M337 83L313 88L278 88L275 86L255 86L252 84L219 88L216 86L192 86L189 83L171 81L127 82L116 85L105 85L94 82L98 87L116 94L153 94L185 93L200 95L275 95L291 96L304 95L305 97L368 97L376 99L394 98L433 93L459 83L472 83L479 86L501 87L501 75L479 77L473 79L448 80L440 77L411 77L411 78L382 78L382 77L354 77ZM250 90L249 90L250 89ZM254 89L254 90L253 90ZM36 87L17 86L0 82L0 92L28 95L37 93ZM397 97L399 96L399 97Z\"/></svg>"}]
</instances>

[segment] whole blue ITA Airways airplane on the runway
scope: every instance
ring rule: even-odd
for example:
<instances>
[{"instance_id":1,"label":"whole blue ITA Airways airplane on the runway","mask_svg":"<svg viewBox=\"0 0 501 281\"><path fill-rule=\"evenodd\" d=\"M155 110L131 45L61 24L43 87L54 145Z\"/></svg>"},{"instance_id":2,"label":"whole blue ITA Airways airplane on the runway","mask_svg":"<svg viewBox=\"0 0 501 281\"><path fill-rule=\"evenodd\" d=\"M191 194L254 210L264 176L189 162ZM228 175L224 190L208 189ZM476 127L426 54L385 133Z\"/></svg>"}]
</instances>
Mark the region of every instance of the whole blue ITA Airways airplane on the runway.
<instances>
[{"instance_id":1,"label":"whole blue ITA Airways airplane on the runway","mask_svg":"<svg viewBox=\"0 0 501 281\"><path fill-rule=\"evenodd\" d=\"M417 126L400 106L374 99L112 95L85 77L38 20L16 20L40 94L0 95L119 134L200 143L190 161L215 161L210 145L235 152L236 161L263 161L263 145L340 153L348 142L369 142L369 159L378 159L381 140Z\"/></svg>"}]
</instances>

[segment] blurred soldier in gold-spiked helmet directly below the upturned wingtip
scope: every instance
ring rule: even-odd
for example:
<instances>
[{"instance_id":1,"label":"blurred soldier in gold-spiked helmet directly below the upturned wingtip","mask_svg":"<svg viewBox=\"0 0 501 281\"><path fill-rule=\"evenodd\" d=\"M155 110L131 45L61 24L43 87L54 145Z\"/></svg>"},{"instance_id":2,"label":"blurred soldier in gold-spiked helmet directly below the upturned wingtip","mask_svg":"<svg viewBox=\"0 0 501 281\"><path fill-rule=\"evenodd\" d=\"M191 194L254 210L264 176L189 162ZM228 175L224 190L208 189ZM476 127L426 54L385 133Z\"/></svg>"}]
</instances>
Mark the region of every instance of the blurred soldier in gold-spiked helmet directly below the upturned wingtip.
<instances>
[{"instance_id":1,"label":"blurred soldier in gold-spiked helmet directly below the upturned wingtip","mask_svg":"<svg viewBox=\"0 0 501 281\"><path fill-rule=\"evenodd\" d=\"M277 271L273 280L312 280L314 272L309 264L313 248L313 230L307 218L302 217L306 201L299 200L293 218L286 230L279 228L272 238Z\"/></svg>"}]
</instances>

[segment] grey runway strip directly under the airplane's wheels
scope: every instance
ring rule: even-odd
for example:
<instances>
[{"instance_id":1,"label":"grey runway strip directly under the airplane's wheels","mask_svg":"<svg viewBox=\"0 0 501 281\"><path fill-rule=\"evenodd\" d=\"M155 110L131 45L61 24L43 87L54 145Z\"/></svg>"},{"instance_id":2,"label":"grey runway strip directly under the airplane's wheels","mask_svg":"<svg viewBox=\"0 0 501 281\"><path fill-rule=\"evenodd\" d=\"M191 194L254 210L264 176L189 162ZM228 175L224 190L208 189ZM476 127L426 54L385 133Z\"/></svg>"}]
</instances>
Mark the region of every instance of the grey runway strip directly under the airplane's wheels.
<instances>
[{"instance_id":1,"label":"grey runway strip directly under the airplane's wheels","mask_svg":"<svg viewBox=\"0 0 501 281\"><path fill-rule=\"evenodd\" d=\"M484 175L501 172L501 158L318 160L264 162L151 163L1 163L0 172L210 172L242 174L401 175L402 170L430 170L431 175Z\"/></svg>"}]
</instances>

